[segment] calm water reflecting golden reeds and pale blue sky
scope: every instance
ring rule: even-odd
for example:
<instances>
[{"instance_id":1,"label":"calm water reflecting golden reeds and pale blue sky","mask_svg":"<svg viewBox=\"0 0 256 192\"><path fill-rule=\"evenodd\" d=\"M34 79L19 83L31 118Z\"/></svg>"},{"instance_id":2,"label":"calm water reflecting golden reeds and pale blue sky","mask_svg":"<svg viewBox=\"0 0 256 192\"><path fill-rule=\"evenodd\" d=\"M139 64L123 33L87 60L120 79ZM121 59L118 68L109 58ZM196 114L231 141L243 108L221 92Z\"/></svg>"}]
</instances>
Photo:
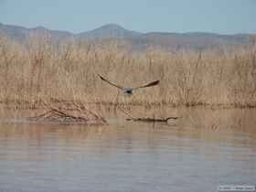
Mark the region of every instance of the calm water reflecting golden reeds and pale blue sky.
<instances>
[{"instance_id":1,"label":"calm water reflecting golden reeds and pale blue sky","mask_svg":"<svg viewBox=\"0 0 256 192\"><path fill-rule=\"evenodd\" d=\"M140 112L149 111L156 112ZM2 119L0 191L205 192L256 184L256 110L159 113L183 118L132 123L109 115L106 125Z\"/></svg>"}]
</instances>

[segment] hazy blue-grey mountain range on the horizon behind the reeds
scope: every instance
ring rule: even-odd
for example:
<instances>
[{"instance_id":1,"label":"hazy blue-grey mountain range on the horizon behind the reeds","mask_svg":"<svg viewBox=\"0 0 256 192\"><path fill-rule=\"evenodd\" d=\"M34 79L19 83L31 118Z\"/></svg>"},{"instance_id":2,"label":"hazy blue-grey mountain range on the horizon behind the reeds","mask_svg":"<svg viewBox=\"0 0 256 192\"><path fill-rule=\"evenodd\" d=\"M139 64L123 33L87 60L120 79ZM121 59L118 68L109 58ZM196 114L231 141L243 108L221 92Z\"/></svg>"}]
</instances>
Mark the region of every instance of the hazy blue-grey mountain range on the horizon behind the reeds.
<instances>
[{"instance_id":1,"label":"hazy blue-grey mountain range on the horizon behind the reeds","mask_svg":"<svg viewBox=\"0 0 256 192\"><path fill-rule=\"evenodd\" d=\"M48 33L54 42L65 39L77 41L99 41L103 39L125 40L132 45L132 48L144 49L149 46L162 48L217 48L220 46L245 45L250 43L250 34L220 35L215 33L191 32L191 33L163 33L150 32L140 33L127 30L116 24L108 24L91 31L73 34L67 31L50 30L45 27L18 27L0 23L0 33L19 43L24 43L32 34Z\"/></svg>"}]
</instances>

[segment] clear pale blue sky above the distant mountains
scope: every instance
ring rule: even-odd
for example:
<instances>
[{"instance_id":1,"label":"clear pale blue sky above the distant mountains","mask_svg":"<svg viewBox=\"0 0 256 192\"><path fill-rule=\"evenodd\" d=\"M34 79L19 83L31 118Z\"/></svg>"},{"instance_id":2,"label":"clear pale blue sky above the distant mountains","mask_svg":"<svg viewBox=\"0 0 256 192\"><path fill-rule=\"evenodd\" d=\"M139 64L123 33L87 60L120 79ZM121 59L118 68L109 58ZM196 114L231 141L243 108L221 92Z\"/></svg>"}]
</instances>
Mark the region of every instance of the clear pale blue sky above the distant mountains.
<instances>
[{"instance_id":1,"label":"clear pale blue sky above the distant mountains","mask_svg":"<svg viewBox=\"0 0 256 192\"><path fill-rule=\"evenodd\" d=\"M256 0L0 0L0 22L75 33L107 23L140 32L256 33Z\"/></svg>"}]
</instances>

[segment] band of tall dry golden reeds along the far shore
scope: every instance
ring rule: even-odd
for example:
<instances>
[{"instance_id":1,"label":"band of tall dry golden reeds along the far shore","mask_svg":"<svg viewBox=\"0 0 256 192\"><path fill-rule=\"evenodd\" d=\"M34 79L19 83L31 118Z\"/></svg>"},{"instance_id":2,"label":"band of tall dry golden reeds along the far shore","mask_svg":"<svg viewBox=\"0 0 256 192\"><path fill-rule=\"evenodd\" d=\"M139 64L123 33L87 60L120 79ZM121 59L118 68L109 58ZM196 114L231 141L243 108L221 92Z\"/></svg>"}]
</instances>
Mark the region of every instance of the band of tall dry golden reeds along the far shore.
<instances>
[{"instance_id":1,"label":"band of tall dry golden reeds along the far shore","mask_svg":"<svg viewBox=\"0 0 256 192\"><path fill-rule=\"evenodd\" d=\"M160 85L119 97L124 104L256 106L256 46L201 52L148 48L124 42L51 43L31 37L18 45L0 37L0 101L35 107L40 101L113 103L118 90L97 74L127 87Z\"/></svg>"}]
</instances>

